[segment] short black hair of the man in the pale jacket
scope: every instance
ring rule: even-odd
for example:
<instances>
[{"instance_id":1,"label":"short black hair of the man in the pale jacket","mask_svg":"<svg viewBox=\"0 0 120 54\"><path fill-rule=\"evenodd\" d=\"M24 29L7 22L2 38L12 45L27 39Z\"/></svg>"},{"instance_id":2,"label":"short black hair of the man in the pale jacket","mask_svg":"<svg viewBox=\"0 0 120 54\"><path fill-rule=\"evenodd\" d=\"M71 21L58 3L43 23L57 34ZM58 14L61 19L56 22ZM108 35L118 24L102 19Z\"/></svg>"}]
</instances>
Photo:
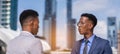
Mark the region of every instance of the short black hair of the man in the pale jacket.
<instances>
[{"instance_id":1,"label":"short black hair of the man in the pale jacket","mask_svg":"<svg viewBox=\"0 0 120 54\"><path fill-rule=\"evenodd\" d=\"M32 10L32 9L27 9L24 10L21 14L20 14L20 24L23 25L23 23L26 21L26 19L28 19L29 17L37 17L39 16L39 14L37 13L37 11Z\"/></svg>"}]
</instances>

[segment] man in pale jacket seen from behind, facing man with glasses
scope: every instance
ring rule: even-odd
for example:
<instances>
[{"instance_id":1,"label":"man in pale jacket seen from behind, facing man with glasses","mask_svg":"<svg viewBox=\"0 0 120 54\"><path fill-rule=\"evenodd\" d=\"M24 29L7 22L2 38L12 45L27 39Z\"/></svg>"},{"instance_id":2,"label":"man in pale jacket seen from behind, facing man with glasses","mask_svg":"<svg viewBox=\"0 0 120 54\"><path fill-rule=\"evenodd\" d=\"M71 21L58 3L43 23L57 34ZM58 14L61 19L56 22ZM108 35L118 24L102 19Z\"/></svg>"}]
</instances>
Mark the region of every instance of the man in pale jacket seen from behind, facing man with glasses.
<instances>
[{"instance_id":1,"label":"man in pale jacket seen from behind, facing man with glasses","mask_svg":"<svg viewBox=\"0 0 120 54\"><path fill-rule=\"evenodd\" d=\"M22 32L7 45L6 54L42 54L42 44L35 35L38 32L38 13L34 10L24 10L20 14Z\"/></svg>"}]
</instances>

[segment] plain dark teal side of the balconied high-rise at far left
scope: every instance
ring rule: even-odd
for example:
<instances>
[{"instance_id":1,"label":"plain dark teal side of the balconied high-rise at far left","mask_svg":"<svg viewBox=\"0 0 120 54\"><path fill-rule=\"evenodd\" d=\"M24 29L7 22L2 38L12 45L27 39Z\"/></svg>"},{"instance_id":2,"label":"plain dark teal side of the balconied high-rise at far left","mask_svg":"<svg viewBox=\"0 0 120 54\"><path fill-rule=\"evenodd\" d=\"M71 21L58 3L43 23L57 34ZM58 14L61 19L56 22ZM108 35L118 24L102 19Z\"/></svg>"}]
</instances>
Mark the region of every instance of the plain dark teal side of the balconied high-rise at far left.
<instances>
[{"instance_id":1,"label":"plain dark teal side of the balconied high-rise at far left","mask_svg":"<svg viewBox=\"0 0 120 54\"><path fill-rule=\"evenodd\" d=\"M17 9L18 0L11 0L11 10L10 10L10 28L12 30L17 30Z\"/></svg>"}]
</instances>

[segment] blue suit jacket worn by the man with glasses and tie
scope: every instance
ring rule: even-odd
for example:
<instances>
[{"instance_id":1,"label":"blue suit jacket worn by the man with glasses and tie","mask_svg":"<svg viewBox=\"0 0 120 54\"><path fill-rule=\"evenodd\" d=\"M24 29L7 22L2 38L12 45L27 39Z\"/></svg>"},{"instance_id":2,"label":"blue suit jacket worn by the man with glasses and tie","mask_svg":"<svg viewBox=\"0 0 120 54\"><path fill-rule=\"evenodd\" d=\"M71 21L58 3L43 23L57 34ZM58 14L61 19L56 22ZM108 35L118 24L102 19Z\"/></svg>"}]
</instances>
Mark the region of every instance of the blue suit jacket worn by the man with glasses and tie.
<instances>
[{"instance_id":1,"label":"blue suit jacket worn by the man with glasses and tie","mask_svg":"<svg viewBox=\"0 0 120 54\"><path fill-rule=\"evenodd\" d=\"M82 41L83 39L76 41L75 45L72 48L71 54L80 54ZM95 36L88 54L112 54L112 49L109 45L109 41Z\"/></svg>"}]
</instances>

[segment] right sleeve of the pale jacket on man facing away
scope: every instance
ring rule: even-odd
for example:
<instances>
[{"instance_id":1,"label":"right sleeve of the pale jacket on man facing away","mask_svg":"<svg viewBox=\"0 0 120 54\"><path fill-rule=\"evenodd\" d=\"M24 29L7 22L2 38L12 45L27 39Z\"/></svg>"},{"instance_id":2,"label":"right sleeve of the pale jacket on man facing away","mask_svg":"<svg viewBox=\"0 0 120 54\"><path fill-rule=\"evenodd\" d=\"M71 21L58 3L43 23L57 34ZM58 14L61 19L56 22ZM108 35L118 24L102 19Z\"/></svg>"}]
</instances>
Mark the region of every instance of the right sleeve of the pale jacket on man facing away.
<instances>
[{"instance_id":1,"label":"right sleeve of the pale jacket on man facing away","mask_svg":"<svg viewBox=\"0 0 120 54\"><path fill-rule=\"evenodd\" d=\"M29 53L30 54L43 54L42 43L40 40L36 41L35 44L31 46Z\"/></svg>"}]
</instances>

